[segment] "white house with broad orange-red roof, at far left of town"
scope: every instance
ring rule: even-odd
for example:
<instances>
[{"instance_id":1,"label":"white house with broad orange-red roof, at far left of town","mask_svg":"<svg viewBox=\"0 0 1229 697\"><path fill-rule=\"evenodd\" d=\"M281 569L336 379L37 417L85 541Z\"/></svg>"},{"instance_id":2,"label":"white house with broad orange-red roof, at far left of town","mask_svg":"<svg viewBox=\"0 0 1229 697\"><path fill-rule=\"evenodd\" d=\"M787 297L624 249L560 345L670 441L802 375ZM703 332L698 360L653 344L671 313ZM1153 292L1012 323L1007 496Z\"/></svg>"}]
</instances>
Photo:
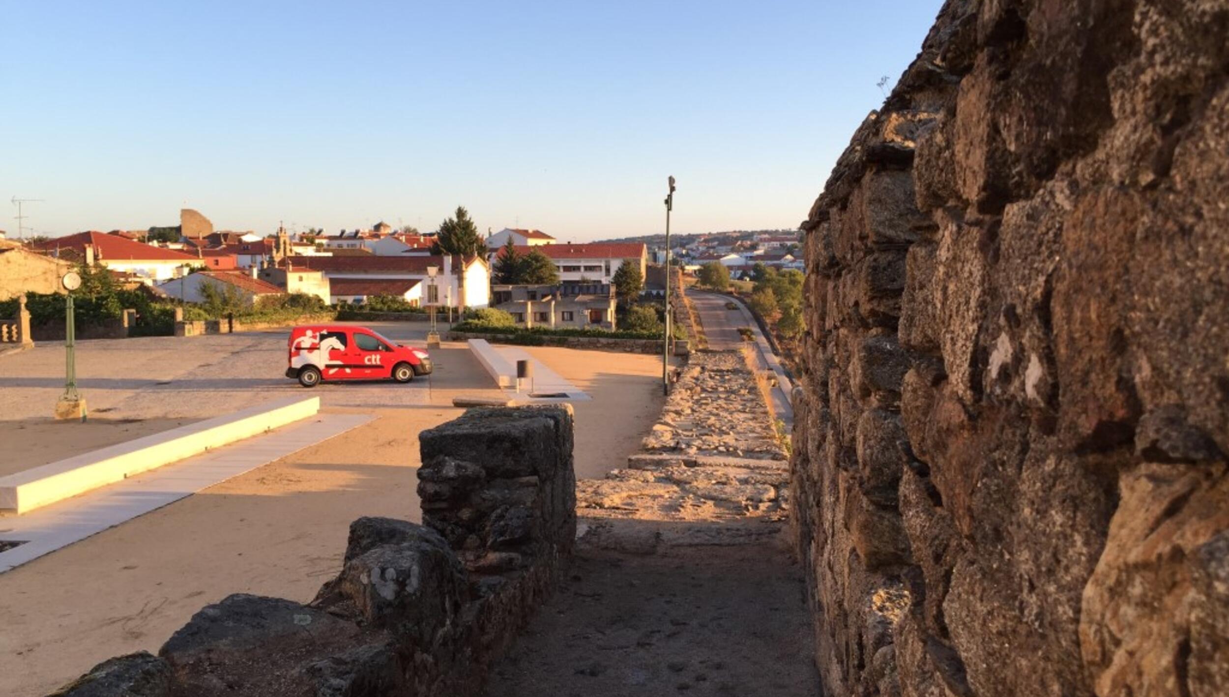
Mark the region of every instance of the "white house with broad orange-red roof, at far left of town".
<instances>
[{"instance_id":1,"label":"white house with broad orange-red roof, at far left of town","mask_svg":"<svg viewBox=\"0 0 1229 697\"><path fill-rule=\"evenodd\" d=\"M102 266L152 282L175 278L184 269L205 266L204 259L195 254L97 231L53 237L29 245L29 248L50 257L80 262L91 267Z\"/></svg>"}]
</instances>

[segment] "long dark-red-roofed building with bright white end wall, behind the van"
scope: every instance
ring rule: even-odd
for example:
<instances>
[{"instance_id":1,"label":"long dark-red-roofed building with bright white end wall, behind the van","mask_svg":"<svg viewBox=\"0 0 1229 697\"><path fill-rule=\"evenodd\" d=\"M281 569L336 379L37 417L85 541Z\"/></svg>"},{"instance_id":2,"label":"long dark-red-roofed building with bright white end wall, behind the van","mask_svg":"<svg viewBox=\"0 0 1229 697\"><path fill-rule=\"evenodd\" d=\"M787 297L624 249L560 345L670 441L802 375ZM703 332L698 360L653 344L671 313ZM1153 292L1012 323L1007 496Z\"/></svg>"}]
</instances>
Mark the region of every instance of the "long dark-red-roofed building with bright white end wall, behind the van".
<instances>
[{"instance_id":1,"label":"long dark-red-roofed building with bright white end wall, behind the van","mask_svg":"<svg viewBox=\"0 0 1229 697\"><path fill-rule=\"evenodd\" d=\"M487 307L490 304L490 267L482 257L376 254L344 257L289 257L295 269L324 273L332 284L339 279L420 280L422 304L451 307ZM435 275L431 277L431 269Z\"/></svg>"}]
</instances>

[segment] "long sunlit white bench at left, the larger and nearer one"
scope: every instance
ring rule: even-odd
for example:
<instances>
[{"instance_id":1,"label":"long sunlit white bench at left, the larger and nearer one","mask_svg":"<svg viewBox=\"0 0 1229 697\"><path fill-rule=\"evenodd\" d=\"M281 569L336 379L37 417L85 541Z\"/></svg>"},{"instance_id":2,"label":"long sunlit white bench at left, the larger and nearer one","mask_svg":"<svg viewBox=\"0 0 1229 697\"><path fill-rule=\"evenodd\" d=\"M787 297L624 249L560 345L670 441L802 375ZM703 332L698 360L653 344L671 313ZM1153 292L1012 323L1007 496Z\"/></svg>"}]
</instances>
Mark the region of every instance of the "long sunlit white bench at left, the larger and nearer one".
<instances>
[{"instance_id":1,"label":"long sunlit white bench at left, the larger and nearer one","mask_svg":"<svg viewBox=\"0 0 1229 697\"><path fill-rule=\"evenodd\" d=\"M320 397L291 397L0 477L0 513L22 514L307 418Z\"/></svg>"}]
</instances>

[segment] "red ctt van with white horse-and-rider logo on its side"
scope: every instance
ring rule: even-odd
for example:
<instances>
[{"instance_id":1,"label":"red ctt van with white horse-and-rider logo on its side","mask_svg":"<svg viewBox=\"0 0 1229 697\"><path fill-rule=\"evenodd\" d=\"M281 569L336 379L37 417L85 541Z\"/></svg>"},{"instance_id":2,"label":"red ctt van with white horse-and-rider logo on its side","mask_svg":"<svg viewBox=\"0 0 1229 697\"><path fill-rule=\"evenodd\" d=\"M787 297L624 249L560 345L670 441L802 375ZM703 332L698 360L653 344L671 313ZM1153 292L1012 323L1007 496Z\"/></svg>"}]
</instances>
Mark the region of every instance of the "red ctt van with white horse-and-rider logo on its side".
<instances>
[{"instance_id":1,"label":"red ctt van with white horse-and-rider logo on its side","mask_svg":"<svg viewBox=\"0 0 1229 697\"><path fill-rule=\"evenodd\" d=\"M409 382L430 375L431 358L366 327L312 326L290 331L289 368L304 387L321 380L396 380Z\"/></svg>"}]
</instances>

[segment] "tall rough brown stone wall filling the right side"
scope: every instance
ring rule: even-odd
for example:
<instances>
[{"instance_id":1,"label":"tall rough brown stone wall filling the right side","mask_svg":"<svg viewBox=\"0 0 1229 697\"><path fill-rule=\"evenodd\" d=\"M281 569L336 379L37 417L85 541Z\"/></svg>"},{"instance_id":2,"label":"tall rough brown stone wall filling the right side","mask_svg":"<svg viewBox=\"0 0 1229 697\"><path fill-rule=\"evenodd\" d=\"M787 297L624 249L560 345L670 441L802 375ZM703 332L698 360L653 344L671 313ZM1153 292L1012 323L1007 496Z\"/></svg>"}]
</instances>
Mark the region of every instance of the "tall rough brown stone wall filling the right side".
<instances>
[{"instance_id":1,"label":"tall rough brown stone wall filling the right side","mask_svg":"<svg viewBox=\"0 0 1229 697\"><path fill-rule=\"evenodd\" d=\"M946 2L804 229L826 695L1229 695L1229 2Z\"/></svg>"}]
</instances>

